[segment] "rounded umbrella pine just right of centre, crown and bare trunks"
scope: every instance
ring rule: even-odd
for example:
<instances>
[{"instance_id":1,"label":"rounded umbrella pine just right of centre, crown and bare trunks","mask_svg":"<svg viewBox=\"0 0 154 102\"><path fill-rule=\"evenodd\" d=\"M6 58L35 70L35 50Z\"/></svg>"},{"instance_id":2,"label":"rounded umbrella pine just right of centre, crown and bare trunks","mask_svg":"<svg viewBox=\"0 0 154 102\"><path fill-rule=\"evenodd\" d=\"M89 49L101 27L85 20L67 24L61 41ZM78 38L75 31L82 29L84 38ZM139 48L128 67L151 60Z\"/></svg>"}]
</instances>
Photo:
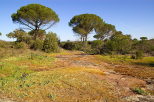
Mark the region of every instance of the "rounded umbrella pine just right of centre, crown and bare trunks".
<instances>
[{"instance_id":1,"label":"rounded umbrella pine just right of centre, crown and bare trunks","mask_svg":"<svg viewBox=\"0 0 154 102\"><path fill-rule=\"evenodd\" d=\"M81 41L87 41L87 36L92 31L96 30L104 22L95 14L81 14L74 16L69 26L73 27L73 31L81 36Z\"/></svg>"}]
</instances>

